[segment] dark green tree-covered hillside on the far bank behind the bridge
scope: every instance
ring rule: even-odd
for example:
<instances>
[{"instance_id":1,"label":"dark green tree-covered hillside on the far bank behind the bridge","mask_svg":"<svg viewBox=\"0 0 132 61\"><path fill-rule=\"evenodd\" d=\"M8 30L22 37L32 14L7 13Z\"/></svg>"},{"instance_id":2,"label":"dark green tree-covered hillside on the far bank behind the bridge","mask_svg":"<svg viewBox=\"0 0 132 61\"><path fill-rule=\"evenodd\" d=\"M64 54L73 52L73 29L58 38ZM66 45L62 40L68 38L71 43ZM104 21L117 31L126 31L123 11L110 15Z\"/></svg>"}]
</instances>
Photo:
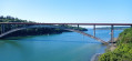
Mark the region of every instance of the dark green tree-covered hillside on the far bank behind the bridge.
<instances>
[{"instance_id":1,"label":"dark green tree-covered hillside on the far bank behind the bridge","mask_svg":"<svg viewBox=\"0 0 132 61\"><path fill-rule=\"evenodd\" d=\"M13 18L10 16L7 16L7 17L1 16L0 22L37 23L34 21L21 20L21 19ZM9 31L9 30L14 29L14 28L28 27L28 26L31 26L31 24L4 24L4 31ZM71 26L63 26L63 27L70 28L70 29L78 29L77 27L71 27ZM79 28L79 30L87 31L87 29L84 29L84 28ZM20 30L20 31L17 31L16 33L8 34L7 37L52 34L52 33L62 33L65 31L67 30L54 29L54 28L33 28L33 29ZM0 26L0 32L1 32L1 26Z\"/></svg>"}]
</instances>

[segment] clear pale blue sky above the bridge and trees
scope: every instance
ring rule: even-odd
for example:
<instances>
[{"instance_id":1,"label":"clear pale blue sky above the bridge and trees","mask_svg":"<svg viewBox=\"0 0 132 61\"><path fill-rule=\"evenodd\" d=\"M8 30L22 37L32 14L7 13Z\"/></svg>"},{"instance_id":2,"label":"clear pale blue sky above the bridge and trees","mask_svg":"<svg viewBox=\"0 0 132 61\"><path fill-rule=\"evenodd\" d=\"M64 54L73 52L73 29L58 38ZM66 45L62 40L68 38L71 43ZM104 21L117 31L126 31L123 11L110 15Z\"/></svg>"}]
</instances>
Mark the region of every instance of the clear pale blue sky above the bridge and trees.
<instances>
[{"instance_id":1,"label":"clear pale blue sky above the bridge and trees","mask_svg":"<svg viewBox=\"0 0 132 61\"><path fill-rule=\"evenodd\" d=\"M132 23L132 0L0 0L0 16L52 23Z\"/></svg>"}]
</instances>

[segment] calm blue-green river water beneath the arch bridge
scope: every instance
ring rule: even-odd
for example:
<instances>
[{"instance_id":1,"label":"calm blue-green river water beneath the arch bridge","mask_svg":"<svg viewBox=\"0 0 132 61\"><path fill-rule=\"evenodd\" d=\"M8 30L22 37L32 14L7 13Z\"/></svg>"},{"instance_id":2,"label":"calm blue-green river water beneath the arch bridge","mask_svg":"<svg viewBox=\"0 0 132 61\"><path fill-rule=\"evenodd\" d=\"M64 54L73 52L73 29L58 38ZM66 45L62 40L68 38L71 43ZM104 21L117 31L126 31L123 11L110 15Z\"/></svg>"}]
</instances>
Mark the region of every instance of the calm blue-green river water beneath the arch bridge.
<instances>
[{"instance_id":1,"label":"calm blue-green river water beneath the arch bridge","mask_svg":"<svg viewBox=\"0 0 132 61\"><path fill-rule=\"evenodd\" d=\"M123 30L114 30L114 37ZM93 34L93 30L85 31ZM97 37L110 40L110 30L97 30ZM0 61L90 61L105 45L75 32L0 40Z\"/></svg>"}]
</instances>

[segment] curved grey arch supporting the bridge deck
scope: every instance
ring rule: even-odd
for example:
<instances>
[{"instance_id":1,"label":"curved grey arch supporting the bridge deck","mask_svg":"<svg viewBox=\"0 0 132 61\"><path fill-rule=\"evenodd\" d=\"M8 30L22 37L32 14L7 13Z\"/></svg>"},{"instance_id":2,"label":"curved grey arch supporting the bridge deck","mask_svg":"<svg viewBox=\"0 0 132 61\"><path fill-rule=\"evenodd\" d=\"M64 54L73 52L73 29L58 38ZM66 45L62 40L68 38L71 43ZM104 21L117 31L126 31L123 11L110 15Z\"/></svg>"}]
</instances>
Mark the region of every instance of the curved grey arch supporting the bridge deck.
<instances>
[{"instance_id":1,"label":"curved grey arch supporting the bridge deck","mask_svg":"<svg viewBox=\"0 0 132 61\"><path fill-rule=\"evenodd\" d=\"M88 34L88 33L85 33L83 31L79 31L79 30L74 30L74 29L67 29L67 28L58 27L58 26L30 26L30 27L17 28L17 29L12 29L10 31L7 31L4 33L1 33L0 38L3 38L4 35L10 34L10 33L16 32L16 31L19 31L19 30L24 30L24 29L30 29L30 28L58 28L58 29L62 29L62 30L69 30L69 31L78 32L78 33L81 33L83 35L87 35L87 37L90 37L92 39L95 39L97 41L100 41L103 44L108 44L108 42L105 42L105 41L103 41L103 40L101 40L101 39L99 39L99 38L97 38L94 35Z\"/></svg>"}]
</instances>

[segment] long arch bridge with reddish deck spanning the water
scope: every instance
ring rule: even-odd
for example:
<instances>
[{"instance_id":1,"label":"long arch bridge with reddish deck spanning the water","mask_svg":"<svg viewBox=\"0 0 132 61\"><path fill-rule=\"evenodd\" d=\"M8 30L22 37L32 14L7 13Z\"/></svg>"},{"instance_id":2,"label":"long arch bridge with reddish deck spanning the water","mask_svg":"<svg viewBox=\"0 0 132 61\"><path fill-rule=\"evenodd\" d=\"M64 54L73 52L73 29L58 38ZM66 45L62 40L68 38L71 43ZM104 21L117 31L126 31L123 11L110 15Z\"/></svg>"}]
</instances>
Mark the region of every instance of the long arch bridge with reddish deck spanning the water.
<instances>
[{"instance_id":1,"label":"long arch bridge with reddish deck spanning the water","mask_svg":"<svg viewBox=\"0 0 132 61\"><path fill-rule=\"evenodd\" d=\"M132 23L22 23L22 22L0 22L0 24L1 24L0 38L7 35L9 33L12 33L12 32L16 32L16 31L19 31L19 30L23 30L23 29L29 29L29 28L58 28L58 29L63 29L63 30L69 30L69 31L81 33L83 35L95 39L97 41L100 41L104 44L108 44L109 42L105 42L104 40L95 37L95 26L111 26L111 42L114 41L114 37L113 37L113 34L114 34L113 33L114 32L113 27L114 26L131 26L132 27ZM6 24L11 24L11 27L13 27L16 24L22 24L22 26L27 24L27 27L12 28L9 31L4 31L4 26ZM77 26L78 28L79 28L79 26L93 26L93 35L91 35L89 33L85 33L83 31L79 31L79 30L74 30L74 29L68 29L68 28L64 28L64 27L59 27L59 24Z\"/></svg>"}]
</instances>

